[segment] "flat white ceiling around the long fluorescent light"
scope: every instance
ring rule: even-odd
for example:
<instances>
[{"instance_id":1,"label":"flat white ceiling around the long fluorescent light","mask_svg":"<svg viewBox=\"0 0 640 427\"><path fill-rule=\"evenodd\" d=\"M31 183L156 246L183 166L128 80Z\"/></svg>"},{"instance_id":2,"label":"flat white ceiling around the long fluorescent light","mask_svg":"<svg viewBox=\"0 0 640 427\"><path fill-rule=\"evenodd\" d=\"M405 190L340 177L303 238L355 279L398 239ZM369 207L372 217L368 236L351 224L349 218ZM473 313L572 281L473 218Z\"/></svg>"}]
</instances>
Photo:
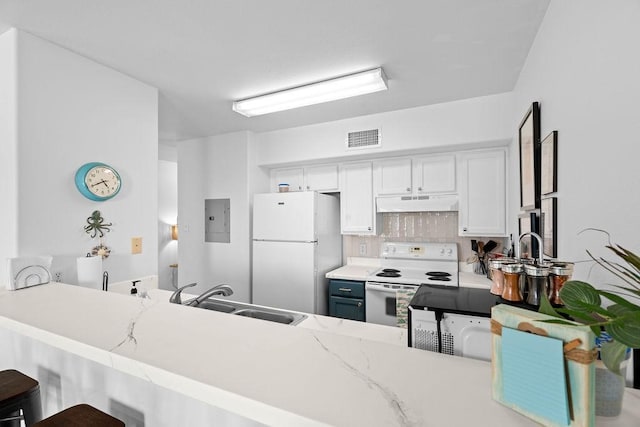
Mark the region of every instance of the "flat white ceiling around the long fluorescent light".
<instances>
[{"instance_id":1,"label":"flat white ceiling around the long fluorescent light","mask_svg":"<svg viewBox=\"0 0 640 427\"><path fill-rule=\"evenodd\" d=\"M0 0L17 27L155 86L164 142L513 89L550 0ZM233 100L382 66L389 90L247 118Z\"/></svg>"}]
</instances>

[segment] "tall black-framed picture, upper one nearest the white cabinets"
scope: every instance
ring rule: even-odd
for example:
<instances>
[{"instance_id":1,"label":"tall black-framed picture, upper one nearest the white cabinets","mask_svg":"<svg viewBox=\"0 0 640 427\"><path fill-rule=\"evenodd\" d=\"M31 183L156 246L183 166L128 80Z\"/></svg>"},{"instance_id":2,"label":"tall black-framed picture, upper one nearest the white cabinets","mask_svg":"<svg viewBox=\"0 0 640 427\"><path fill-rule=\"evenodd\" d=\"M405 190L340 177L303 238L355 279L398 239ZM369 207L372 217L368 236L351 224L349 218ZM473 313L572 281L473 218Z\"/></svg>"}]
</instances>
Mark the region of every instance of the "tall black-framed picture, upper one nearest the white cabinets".
<instances>
[{"instance_id":1,"label":"tall black-framed picture, upper one nearest the white cabinets","mask_svg":"<svg viewBox=\"0 0 640 427\"><path fill-rule=\"evenodd\" d=\"M539 207L540 200L540 104L533 102L518 128L520 147L520 207Z\"/></svg>"}]
</instances>

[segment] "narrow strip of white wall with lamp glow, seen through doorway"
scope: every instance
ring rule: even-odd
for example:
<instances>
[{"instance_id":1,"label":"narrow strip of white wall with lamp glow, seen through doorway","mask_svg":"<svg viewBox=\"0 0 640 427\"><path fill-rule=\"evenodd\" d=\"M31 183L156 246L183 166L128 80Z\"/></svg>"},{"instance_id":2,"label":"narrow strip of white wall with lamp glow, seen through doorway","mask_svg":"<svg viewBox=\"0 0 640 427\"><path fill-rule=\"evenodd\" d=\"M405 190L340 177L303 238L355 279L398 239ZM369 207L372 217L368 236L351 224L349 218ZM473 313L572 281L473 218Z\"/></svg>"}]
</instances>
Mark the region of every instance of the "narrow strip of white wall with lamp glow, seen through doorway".
<instances>
[{"instance_id":1,"label":"narrow strip of white wall with lamp glow, seen through doorway","mask_svg":"<svg viewBox=\"0 0 640 427\"><path fill-rule=\"evenodd\" d=\"M178 263L178 241L171 240L171 225L178 223L178 164L158 161L158 287L173 289L169 267Z\"/></svg>"}]
</instances>

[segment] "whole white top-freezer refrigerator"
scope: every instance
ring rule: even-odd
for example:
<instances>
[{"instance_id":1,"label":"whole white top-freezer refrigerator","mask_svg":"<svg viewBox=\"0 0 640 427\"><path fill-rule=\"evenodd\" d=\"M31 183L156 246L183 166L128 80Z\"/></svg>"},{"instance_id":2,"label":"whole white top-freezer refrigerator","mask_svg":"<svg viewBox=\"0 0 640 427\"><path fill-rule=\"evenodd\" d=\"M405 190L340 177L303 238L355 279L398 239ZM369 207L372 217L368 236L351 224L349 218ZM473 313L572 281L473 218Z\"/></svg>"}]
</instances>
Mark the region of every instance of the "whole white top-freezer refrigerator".
<instances>
[{"instance_id":1,"label":"whole white top-freezer refrigerator","mask_svg":"<svg viewBox=\"0 0 640 427\"><path fill-rule=\"evenodd\" d=\"M340 203L313 191L253 199L254 304L327 314L325 274L342 263Z\"/></svg>"}]
</instances>

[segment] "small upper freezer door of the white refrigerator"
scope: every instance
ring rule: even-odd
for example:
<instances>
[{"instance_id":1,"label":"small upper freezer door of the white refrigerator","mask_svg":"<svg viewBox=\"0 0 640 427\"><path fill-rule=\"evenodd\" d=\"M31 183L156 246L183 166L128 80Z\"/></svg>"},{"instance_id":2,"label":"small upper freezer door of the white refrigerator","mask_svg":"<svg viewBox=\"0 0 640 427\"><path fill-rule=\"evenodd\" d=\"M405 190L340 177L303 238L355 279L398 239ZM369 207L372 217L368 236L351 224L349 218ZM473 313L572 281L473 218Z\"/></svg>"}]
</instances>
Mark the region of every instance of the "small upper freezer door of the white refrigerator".
<instances>
[{"instance_id":1,"label":"small upper freezer door of the white refrigerator","mask_svg":"<svg viewBox=\"0 0 640 427\"><path fill-rule=\"evenodd\" d=\"M316 240L316 196L313 191L256 194L254 240Z\"/></svg>"}]
</instances>

